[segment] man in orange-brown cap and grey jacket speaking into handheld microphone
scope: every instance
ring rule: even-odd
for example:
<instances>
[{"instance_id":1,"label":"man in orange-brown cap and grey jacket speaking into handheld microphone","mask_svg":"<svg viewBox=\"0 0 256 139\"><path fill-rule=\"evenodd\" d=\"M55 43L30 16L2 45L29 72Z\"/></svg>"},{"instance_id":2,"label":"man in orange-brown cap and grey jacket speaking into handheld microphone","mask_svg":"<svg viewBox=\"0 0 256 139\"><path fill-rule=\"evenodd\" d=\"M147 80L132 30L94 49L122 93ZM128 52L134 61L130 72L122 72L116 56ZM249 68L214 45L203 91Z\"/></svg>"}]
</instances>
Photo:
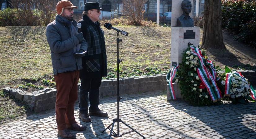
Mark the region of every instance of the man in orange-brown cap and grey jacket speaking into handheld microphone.
<instances>
[{"instance_id":1,"label":"man in orange-brown cap and grey jacket speaking into handheld microphone","mask_svg":"<svg viewBox=\"0 0 256 139\"><path fill-rule=\"evenodd\" d=\"M74 117L79 70L82 69L82 56L74 53L87 51L87 42L83 38L83 33L77 33L77 22L73 19L74 8L77 7L70 1L58 2L55 20L46 28L57 89L55 111L58 137L65 139L76 137L68 129L82 131L87 128L76 123Z\"/></svg>"}]
</instances>

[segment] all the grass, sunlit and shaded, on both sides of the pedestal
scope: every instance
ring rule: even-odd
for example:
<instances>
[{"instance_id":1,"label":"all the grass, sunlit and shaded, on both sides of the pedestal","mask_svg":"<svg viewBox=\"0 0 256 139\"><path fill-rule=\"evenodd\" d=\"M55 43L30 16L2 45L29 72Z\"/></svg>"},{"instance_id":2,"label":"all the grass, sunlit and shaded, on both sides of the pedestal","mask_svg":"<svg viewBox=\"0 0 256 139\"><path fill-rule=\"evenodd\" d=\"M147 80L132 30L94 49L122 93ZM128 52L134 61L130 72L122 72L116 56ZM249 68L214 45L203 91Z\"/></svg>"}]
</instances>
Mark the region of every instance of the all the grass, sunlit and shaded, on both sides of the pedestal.
<instances>
[{"instance_id":1,"label":"all the grass, sunlit and shaded, on both sides of the pedestal","mask_svg":"<svg viewBox=\"0 0 256 139\"><path fill-rule=\"evenodd\" d=\"M160 74L168 72L170 65L170 27L117 26L129 32L128 37L119 34L120 77ZM30 113L25 103L3 94L4 87L52 84L50 49L45 36L46 27L0 27L0 122ZM105 31L108 57L108 77L116 77L116 32ZM200 40L202 39L200 30ZM210 60L217 65L256 69L256 50L245 46L224 33L227 50L209 49ZM201 43L201 41L200 41ZM44 80L47 79L47 80ZM37 89L38 89L37 88ZM31 90L30 90L31 91Z\"/></svg>"}]
</instances>

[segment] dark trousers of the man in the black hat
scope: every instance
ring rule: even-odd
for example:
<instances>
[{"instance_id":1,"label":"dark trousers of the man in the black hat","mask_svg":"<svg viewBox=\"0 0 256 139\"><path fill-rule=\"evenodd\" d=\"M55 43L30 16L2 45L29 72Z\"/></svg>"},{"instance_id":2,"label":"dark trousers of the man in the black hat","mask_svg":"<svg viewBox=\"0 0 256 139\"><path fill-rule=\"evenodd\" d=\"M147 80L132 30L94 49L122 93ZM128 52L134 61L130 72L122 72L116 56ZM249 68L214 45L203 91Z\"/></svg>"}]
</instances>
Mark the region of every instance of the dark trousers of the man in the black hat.
<instances>
[{"instance_id":1,"label":"dark trousers of the man in the black hat","mask_svg":"<svg viewBox=\"0 0 256 139\"><path fill-rule=\"evenodd\" d=\"M90 107L89 111L98 109L100 104L101 77L98 78L80 78L81 85L79 89L79 112L88 113L88 94Z\"/></svg>"}]
</instances>

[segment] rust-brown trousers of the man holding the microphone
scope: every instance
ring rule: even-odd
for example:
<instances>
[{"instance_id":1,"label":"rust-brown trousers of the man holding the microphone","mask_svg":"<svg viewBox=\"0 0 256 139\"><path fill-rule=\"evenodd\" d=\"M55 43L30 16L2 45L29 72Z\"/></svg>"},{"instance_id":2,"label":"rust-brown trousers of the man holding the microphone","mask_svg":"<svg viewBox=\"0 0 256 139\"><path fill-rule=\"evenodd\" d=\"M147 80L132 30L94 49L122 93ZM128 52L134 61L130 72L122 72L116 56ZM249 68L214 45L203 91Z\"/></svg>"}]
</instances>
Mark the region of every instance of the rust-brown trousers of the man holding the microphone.
<instances>
[{"instance_id":1,"label":"rust-brown trousers of the man holding the microphone","mask_svg":"<svg viewBox=\"0 0 256 139\"><path fill-rule=\"evenodd\" d=\"M74 124L74 103L77 99L77 83L79 80L79 70L65 73L58 73L54 76L56 82L56 122L58 130L67 128Z\"/></svg>"}]
</instances>

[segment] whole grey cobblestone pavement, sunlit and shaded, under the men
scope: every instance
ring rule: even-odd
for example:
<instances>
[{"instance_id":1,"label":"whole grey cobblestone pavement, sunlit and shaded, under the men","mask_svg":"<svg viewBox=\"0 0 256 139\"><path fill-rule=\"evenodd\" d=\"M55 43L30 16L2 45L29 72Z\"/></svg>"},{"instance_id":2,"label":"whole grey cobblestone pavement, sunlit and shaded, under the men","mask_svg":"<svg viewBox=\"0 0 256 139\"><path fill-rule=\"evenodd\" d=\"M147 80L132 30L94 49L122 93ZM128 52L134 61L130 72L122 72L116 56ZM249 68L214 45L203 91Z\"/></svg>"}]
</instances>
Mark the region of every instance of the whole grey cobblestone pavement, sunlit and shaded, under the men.
<instances>
[{"instance_id":1,"label":"whole grey cobblestone pavement, sunlit and shaded, under the men","mask_svg":"<svg viewBox=\"0 0 256 139\"><path fill-rule=\"evenodd\" d=\"M148 139L165 138L256 138L256 103L232 104L223 102L219 106L193 107L183 100L166 101L163 92L122 95L120 118ZM76 138L108 138L107 130L101 133L117 118L116 97L101 98L100 108L109 113L109 118L92 116L92 123L78 119L78 105L75 117L89 128L76 133ZM117 124L115 124L114 131ZM129 131L120 124L120 134ZM45 139L57 138L55 110L33 114L0 125L0 138ZM142 138L132 132L120 139Z\"/></svg>"}]
</instances>

